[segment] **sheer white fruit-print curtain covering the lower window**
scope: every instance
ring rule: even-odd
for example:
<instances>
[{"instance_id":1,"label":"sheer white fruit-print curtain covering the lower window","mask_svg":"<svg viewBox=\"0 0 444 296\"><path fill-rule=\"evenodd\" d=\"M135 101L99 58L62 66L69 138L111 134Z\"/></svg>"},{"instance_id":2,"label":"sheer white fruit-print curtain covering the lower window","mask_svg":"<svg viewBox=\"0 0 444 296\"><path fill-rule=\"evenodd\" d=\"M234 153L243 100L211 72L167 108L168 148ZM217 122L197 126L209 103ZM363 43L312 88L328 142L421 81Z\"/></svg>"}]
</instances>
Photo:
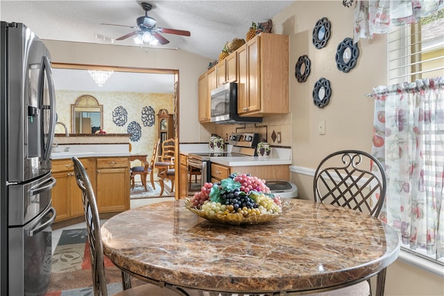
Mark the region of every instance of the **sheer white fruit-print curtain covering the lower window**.
<instances>
[{"instance_id":1,"label":"sheer white fruit-print curtain covering the lower window","mask_svg":"<svg viewBox=\"0 0 444 296\"><path fill-rule=\"evenodd\" d=\"M444 258L444 77L375 87L373 155L386 168L379 216L402 244Z\"/></svg>"}]
</instances>

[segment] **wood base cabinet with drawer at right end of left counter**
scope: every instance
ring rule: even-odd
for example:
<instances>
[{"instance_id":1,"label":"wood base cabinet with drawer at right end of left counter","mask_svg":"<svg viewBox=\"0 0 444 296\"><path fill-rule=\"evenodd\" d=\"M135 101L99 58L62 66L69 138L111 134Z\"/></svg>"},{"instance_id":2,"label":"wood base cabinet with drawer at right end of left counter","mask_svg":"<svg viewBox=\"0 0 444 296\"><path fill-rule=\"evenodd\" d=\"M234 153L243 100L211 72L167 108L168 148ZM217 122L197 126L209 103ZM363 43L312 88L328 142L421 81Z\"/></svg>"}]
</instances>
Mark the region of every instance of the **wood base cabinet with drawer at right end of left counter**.
<instances>
[{"instance_id":1,"label":"wood base cabinet with drawer at right end of left counter","mask_svg":"<svg viewBox=\"0 0 444 296\"><path fill-rule=\"evenodd\" d=\"M128 157L97 157L97 208L100 213L130 209Z\"/></svg>"}]
</instances>

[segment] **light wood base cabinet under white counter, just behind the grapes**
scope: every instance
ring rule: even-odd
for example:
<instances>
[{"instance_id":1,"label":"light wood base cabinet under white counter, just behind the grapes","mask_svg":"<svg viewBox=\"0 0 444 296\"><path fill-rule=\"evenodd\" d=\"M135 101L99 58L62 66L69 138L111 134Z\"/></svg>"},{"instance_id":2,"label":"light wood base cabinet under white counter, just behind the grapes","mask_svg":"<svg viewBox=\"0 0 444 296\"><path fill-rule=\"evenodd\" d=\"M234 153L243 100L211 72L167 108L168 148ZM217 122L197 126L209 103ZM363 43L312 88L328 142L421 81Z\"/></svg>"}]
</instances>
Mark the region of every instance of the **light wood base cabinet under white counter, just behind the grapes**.
<instances>
[{"instance_id":1,"label":"light wood base cabinet under white counter, just behind the grapes","mask_svg":"<svg viewBox=\"0 0 444 296\"><path fill-rule=\"evenodd\" d=\"M232 173L249 173L263 180L290 180L288 164L272 166L223 166L222 164L211 164L211 180L213 183L228 178Z\"/></svg>"}]
</instances>

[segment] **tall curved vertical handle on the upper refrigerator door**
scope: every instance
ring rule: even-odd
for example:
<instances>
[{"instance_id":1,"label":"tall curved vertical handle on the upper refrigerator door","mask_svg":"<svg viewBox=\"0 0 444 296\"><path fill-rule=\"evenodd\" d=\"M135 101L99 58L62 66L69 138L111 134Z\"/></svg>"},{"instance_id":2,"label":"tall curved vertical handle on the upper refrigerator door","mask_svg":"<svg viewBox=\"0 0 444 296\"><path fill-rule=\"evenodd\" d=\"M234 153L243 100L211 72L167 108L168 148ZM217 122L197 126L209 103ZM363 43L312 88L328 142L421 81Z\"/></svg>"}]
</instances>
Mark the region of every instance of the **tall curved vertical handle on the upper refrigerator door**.
<instances>
[{"instance_id":1,"label":"tall curved vertical handle on the upper refrigerator door","mask_svg":"<svg viewBox=\"0 0 444 296\"><path fill-rule=\"evenodd\" d=\"M43 146L44 156L43 160L48 161L49 157L51 157L51 149L53 146L54 132L56 130L56 92L54 89L53 82L53 72L51 70L51 62L49 62L49 58L44 56L42 57L42 68L43 71L46 72L46 76L48 78L48 88L49 88L49 131L48 131L48 141L46 142L46 146ZM42 73L42 75L44 75ZM44 87L44 77L40 79L40 94L43 94ZM44 145L44 144L43 144Z\"/></svg>"}]
</instances>

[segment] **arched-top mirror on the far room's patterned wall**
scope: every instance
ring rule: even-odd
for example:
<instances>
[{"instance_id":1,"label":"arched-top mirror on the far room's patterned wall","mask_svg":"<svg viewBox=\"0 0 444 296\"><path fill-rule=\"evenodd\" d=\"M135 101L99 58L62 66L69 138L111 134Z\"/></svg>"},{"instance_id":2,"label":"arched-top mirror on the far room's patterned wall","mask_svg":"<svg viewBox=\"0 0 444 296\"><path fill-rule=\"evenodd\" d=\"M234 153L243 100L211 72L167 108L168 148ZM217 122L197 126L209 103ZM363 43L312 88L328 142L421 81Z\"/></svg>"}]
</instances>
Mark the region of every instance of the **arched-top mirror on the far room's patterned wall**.
<instances>
[{"instance_id":1,"label":"arched-top mirror on the far room's patterned wall","mask_svg":"<svg viewBox=\"0 0 444 296\"><path fill-rule=\"evenodd\" d=\"M71 105L72 132L94 134L103 127L103 105L94 96L79 96Z\"/></svg>"}]
</instances>

